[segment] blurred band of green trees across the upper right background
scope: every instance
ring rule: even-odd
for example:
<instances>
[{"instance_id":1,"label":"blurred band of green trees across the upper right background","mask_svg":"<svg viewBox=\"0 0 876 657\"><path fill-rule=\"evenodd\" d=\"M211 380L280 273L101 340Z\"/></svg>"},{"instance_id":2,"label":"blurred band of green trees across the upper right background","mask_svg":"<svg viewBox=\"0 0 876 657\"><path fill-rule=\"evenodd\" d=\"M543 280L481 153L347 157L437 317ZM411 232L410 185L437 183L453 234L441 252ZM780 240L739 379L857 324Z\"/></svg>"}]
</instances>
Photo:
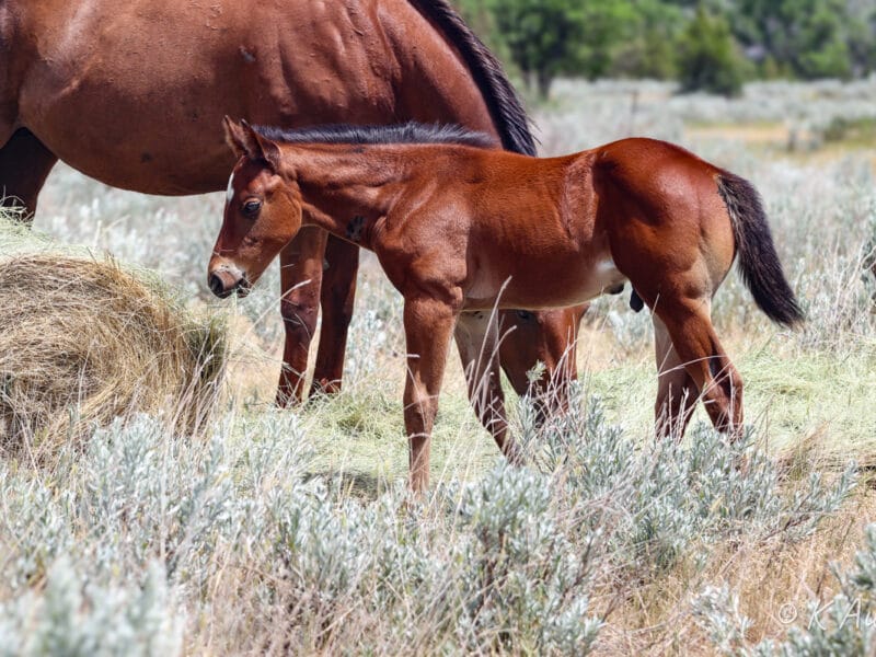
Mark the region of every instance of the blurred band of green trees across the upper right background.
<instances>
[{"instance_id":1,"label":"blurred band of green trees across the upper right background","mask_svg":"<svg viewBox=\"0 0 876 657\"><path fill-rule=\"evenodd\" d=\"M458 0L542 97L557 76L677 80L738 94L746 80L850 80L876 70L868 0Z\"/></svg>"}]
</instances>

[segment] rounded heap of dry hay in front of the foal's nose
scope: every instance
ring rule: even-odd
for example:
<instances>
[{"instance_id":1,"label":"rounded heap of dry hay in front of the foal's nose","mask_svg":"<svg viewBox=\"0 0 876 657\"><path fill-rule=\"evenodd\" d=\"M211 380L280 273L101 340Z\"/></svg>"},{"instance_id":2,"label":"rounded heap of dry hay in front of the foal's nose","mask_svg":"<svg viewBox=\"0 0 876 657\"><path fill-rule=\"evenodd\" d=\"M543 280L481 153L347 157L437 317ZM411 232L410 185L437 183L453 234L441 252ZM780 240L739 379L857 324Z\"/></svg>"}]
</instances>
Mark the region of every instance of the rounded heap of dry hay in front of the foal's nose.
<instances>
[{"instance_id":1,"label":"rounded heap of dry hay in front of the foal's nose","mask_svg":"<svg viewBox=\"0 0 876 657\"><path fill-rule=\"evenodd\" d=\"M222 326L113 261L0 261L0 326L3 450L41 461L58 440L140 412L194 429L215 405Z\"/></svg>"}]
</instances>

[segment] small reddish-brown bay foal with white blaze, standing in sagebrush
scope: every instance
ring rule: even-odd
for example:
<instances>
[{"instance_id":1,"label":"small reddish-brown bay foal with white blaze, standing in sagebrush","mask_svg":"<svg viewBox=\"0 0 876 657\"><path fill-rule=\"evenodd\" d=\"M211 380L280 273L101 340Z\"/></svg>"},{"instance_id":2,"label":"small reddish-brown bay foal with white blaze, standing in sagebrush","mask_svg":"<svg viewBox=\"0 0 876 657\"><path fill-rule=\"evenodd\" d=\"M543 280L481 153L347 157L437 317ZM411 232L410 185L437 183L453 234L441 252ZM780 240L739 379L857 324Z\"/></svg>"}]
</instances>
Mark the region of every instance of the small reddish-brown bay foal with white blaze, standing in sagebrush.
<instances>
[{"instance_id":1,"label":"small reddish-brown bay foal with white blaze, standing in sagebrush","mask_svg":"<svg viewBox=\"0 0 876 657\"><path fill-rule=\"evenodd\" d=\"M226 118L226 130L239 161L210 289L245 292L302 217L372 250L404 297L404 419L416 491L428 484L450 337L469 333L495 354L487 318L496 304L562 308L629 280L654 319L661 434L683 431L698 399L718 429L741 427L742 382L711 321L712 297L737 253L770 319L793 325L803 316L757 192L662 141L537 159L487 150L489 138L447 127L281 132ZM514 459L497 388L491 382L486 400L473 402Z\"/></svg>"}]
</instances>

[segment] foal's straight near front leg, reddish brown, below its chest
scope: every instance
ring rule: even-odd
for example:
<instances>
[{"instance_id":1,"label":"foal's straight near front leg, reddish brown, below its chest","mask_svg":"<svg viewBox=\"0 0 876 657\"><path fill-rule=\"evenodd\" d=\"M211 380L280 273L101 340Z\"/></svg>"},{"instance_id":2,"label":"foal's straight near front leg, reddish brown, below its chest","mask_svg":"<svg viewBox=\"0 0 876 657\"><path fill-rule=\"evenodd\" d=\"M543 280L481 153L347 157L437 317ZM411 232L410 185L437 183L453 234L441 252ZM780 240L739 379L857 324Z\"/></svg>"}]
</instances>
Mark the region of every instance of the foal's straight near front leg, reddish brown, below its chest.
<instances>
[{"instance_id":1,"label":"foal's straight near front leg, reddish brown, below its chest","mask_svg":"<svg viewBox=\"0 0 876 657\"><path fill-rule=\"evenodd\" d=\"M462 295L459 297L461 300ZM411 488L417 493L429 485L431 428L438 413L438 394L458 306L431 297L405 298L407 378L404 387L404 427L408 440Z\"/></svg>"}]
</instances>

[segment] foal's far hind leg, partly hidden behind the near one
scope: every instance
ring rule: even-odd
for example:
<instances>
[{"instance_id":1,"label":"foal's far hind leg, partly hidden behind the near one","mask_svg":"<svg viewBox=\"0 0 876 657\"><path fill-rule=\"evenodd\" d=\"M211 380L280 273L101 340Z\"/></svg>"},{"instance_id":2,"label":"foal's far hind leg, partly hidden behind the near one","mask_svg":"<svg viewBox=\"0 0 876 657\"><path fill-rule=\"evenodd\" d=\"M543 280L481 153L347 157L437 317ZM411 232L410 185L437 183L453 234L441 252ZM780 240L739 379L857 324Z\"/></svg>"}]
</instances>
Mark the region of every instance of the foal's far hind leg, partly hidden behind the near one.
<instances>
[{"instance_id":1,"label":"foal's far hind leg, partly hidden behind the near one","mask_svg":"<svg viewBox=\"0 0 876 657\"><path fill-rule=\"evenodd\" d=\"M700 397L700 389L672 346L666 324L656 314L652 319L657 358L657 403L654 406L657 436L681 437Z\"/></svg>"}]
</instances>

